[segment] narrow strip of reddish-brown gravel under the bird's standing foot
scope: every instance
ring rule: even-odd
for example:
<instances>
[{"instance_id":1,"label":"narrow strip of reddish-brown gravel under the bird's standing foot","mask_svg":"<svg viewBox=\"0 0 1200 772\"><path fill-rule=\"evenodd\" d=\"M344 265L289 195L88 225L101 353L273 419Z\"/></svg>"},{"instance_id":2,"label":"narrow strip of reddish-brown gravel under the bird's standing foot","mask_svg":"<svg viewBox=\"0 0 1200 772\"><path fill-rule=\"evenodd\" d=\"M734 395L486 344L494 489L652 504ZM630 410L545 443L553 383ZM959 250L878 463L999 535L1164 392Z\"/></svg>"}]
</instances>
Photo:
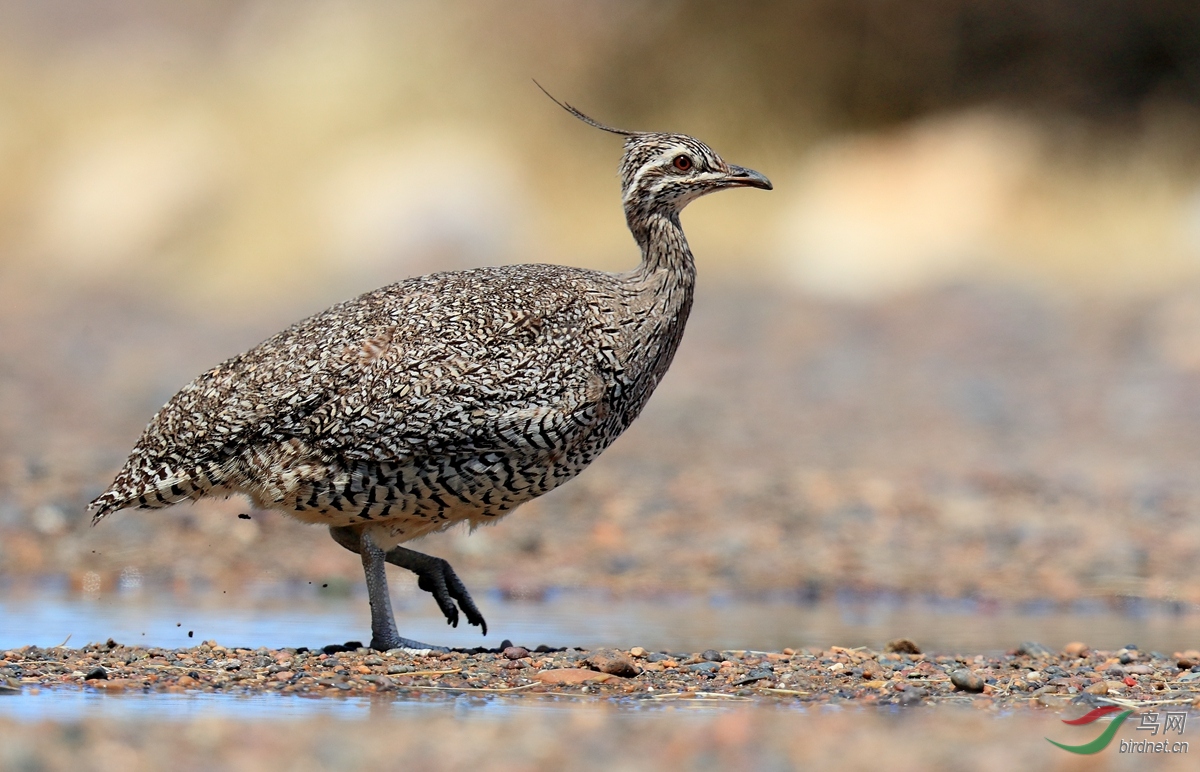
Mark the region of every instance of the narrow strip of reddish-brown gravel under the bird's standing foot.
<instances>
[{"instance_id":1,"label":"narrow strip of reddish-brown gravel under the bird's standing foot","mask_svg":"<svg viewBox=\"0 0 1200 772\"><path fill-rule=\"evenodd\" d=\"M349 641L320 651L227 648L208 641L162 650L115 641L80 650L25 647L0 659L0 690L221 692L406 698L479 694L589 695L617 701L727 699L974 707L1181 705L1200 707L1200 652L1058 653L1036 642L1003 657L925 654L907 639L882 652L529 651L374 652Z\"/></svg>"}]
</instances>

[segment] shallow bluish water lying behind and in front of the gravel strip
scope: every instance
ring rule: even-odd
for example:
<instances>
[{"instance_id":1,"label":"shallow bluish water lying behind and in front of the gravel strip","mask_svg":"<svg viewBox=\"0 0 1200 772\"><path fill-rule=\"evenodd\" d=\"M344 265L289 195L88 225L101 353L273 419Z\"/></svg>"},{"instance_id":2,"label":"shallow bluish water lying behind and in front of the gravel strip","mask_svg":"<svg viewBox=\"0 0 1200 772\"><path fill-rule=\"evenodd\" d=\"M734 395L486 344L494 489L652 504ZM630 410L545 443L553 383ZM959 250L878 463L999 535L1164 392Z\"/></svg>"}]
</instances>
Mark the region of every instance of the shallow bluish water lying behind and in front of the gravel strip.
<instances>
[{"instance_id":1,"label":"shallow bluish water lying behind and in front of the gravel strip","mask_svg":"<svg viewBox=\"0 0 1200 772\"><path fill-rule=\"evenodd\" d=\"M11 588L10 588L11 590ZM402 590L402 588L401 588ZM368 638L365 592L340 597L274 587L246 597L150 591L84 598L65 590L6 592L0 600L0 648L34 644L70 646L109 638L122 644L184 647L216 640L238 647L319 647ZM1171 653L1200 646L1200 610L1127 603L1003 606L973 602L905 600L842 596L818 604L731 598L656 602L556 593L544 602L480 596L491 627L452 629L420 594L400 593L397 621L418 640L449 646L643 646L659 651L763 650L786 646L870 646L907 636L925 651L985 653L1036 640L1058 647L1082 640L1096 648L1128 644ZM188 636L188 632L192 633ZM76 687L26 689L0 698L0 716L67 720L91 714L185 719L205 714L288 718L365 717L390 711L508 713L551 705L518 699L386 699L263 694L97 694Z\"/></svg>"}]
</instances>

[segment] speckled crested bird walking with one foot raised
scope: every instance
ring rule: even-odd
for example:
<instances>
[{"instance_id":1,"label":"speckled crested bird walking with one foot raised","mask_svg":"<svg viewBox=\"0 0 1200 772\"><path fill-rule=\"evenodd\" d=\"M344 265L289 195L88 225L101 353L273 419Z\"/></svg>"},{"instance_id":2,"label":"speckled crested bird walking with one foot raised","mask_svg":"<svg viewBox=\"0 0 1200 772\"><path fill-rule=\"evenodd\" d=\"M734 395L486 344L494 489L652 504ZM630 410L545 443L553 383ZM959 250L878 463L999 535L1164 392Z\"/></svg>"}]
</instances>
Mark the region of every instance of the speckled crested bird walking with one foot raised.
<instances>
[{"instance_id":1,"label":"speckled crested bird walking with one foot raised","mask_svg":"<svg viewBox=\"0 0 1200 772\"><path fill-rule=\"evenodd\" d=\"M245 495L359 553L371 648L445 651L400 635L386 563L416 574L449 624L461 610L486 635L449 562L401 545L496 522L594 461L641 413L683 337L696 267L680 211L715 191L772 190L688 134L614 128L542 91L624 138L634 269L436 273L298 322L170 397L90 503L92 525L126 508Z\"/></svg>"}]
</instances>

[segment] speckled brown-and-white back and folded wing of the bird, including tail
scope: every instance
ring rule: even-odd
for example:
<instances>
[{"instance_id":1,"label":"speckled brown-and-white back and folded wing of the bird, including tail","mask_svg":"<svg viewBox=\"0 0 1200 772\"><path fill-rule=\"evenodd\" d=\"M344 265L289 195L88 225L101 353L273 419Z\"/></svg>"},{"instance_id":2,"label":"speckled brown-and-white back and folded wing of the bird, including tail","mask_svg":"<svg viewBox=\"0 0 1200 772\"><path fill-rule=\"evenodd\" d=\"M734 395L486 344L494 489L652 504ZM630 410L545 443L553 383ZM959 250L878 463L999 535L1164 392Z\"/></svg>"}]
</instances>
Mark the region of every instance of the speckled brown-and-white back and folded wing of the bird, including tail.
<instances>
[{"instance_id":1,"label":"speckled brown-and-white back and folded wing of the bird, including tail","mask_svg":"<svg viewBox=\"0 0 1200 772\"><path fill-rule=\"evenodd\" d=\"M570 270L436 274L299 322L173 396L92 509L181 501L293 441L326 462L557 442L602 396Z\"/></svg>"}]
</instances>

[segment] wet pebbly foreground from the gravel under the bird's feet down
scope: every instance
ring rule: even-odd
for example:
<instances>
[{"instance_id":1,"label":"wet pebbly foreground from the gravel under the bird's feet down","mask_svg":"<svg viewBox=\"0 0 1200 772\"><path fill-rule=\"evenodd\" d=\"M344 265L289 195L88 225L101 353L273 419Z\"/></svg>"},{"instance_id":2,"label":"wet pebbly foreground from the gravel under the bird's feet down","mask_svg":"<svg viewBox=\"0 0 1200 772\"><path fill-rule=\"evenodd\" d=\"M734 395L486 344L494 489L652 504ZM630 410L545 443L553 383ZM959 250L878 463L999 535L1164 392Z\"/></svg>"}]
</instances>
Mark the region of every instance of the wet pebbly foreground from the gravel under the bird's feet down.
<instances>
[{"instance_id":1,"label":"wet pebbly foreground from the gravel under the bird's feet down","mask_svg":"<svg viewBox=\"0 0 1200 772\"><path fill-rule=\"evenodd\" d=\"M916 648L22 647L0 659L0 768L1194 768L1190 659ZM1103 755L1046 742L1092 741L1108 722L1063 722L1097 708L1122 722ZM1168 714L1174 753L1130 752Z\"/></svg>"}]
</instances>

